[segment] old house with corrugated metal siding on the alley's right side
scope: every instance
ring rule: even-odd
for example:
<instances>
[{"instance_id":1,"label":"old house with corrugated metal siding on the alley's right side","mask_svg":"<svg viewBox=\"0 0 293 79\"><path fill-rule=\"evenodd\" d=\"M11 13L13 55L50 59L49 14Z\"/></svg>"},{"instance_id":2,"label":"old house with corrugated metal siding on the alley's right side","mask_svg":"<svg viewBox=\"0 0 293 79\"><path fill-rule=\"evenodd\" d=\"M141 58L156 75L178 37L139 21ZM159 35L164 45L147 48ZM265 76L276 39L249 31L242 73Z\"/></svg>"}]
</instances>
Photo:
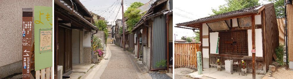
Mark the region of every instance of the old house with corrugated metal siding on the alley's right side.
<instances>
[{"instance_id":1,"label":"old house with corrugated metal siding on the alley's right side","mask_svg":"<svg viewBox=\"0 0 293 79\"><path fill-rule=\"evenodd\" d=\"M156 0L132 32L137 58L142 59L150 71L169 69L173 43L172 0ZM156 62L162 60L167 61L167 67L156 67Z\"/></svg>"}]
</instances>

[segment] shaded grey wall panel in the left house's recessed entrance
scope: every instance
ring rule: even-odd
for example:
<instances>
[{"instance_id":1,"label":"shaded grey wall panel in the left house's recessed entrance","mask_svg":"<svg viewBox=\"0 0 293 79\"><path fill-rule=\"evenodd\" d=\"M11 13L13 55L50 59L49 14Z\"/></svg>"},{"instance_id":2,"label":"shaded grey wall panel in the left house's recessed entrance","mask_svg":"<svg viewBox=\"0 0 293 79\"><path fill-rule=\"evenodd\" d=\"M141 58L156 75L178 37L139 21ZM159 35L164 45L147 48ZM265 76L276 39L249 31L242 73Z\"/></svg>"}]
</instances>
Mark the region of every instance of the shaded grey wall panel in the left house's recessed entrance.
<instances>
[{"instance_id":1,"label":"shaded grey wall panel in the left house's recessed entrance","mask_svg":"<svg viewBox=\"0 0 293 79\"><path fill-rule=\"evenodd\" d=\"M80 63L80 31L72 30L72 63Z\"/></svg>"}]
</instances>

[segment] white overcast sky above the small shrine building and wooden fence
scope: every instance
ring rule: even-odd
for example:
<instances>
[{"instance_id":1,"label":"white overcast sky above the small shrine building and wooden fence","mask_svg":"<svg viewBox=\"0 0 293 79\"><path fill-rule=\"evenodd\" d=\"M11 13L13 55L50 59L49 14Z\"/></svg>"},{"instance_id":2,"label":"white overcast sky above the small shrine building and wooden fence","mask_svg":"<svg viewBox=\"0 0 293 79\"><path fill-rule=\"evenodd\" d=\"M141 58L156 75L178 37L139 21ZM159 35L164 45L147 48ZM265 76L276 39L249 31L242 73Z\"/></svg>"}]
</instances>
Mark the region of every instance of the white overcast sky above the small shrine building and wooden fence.
<instances>
[{"instance_id":1,"label":"white overcast sky above the small shrine building and wooden fence","mask_svg":"<svg viewBox=\"0 0 293 79\"><path fill-rule=\"evenodd\" d=\"M173 0L173 26L177 23L188 22L199 18L208 17L213 14L213 9L218 9L219 5L226 4L225 0ZM259 3L267 4L267 1L260 0ZM177 34L176 39L181 39L182 36L194 37L195 34L190 29L182 29L174 27L174 34Z\"/></svg>"}]
</instances>

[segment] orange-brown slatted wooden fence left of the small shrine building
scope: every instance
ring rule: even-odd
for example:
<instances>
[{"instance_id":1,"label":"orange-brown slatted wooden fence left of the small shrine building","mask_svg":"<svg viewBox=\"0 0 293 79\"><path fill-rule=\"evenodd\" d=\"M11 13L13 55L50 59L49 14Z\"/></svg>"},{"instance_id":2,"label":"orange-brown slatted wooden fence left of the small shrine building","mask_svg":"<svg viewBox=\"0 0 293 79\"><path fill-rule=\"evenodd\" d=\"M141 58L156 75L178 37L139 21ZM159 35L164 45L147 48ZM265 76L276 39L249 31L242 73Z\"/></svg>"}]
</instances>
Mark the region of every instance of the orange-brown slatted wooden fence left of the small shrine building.
<instances>
[{"instance_id":1,"label":"orange-brown slatted wooden fence left of the small shrine building","mask_svg":"<svg viewBox=\"0 0 293 79\"><path fill-rule=\"evenodd\" d=\"M175 43L175 68L186 67L197 69L197 51L199 51L199 43Z\"/></svg>"}]
</instances>

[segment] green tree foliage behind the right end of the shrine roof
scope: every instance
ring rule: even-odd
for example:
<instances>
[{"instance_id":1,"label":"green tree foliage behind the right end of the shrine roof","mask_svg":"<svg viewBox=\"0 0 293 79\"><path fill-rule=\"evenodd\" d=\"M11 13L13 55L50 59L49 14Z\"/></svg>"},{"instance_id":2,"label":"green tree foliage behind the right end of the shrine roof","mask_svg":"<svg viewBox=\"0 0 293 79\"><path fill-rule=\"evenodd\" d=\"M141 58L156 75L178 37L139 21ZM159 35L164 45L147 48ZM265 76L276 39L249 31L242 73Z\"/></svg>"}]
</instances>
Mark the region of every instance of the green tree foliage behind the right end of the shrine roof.
<instances>
[{"instance_id":1,"label":"green tree foliage behind the right end of the shrine roof","mask_svg":"<svg viewBox=\"0 0 293 79\"><path fill-rule=\"evenodd\" d=\"M275 14L277 18L285 17L285 7L284 7L284 0L268 0L274 3L275 7Z\"/></svg>"}]
</instances>

